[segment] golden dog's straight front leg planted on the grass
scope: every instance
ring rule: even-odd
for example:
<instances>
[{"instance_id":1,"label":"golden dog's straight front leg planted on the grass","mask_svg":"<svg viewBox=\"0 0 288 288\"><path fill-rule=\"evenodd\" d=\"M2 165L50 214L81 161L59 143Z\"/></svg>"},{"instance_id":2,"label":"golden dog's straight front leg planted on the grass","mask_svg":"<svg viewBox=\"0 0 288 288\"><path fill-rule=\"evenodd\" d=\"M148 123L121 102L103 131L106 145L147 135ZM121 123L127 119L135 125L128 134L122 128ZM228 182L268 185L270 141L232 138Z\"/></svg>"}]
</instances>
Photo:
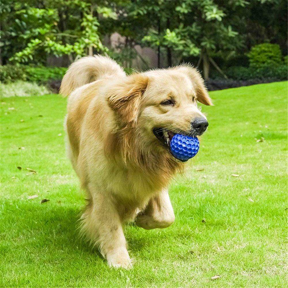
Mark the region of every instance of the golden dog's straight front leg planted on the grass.
<instances>
[{"instance_id":1,"label":"golden dog's straight front leg planted on the grass","mask_svg":"<svg viewBox=\"0 0 288 288\"><path fill-rule=\"evenodd\" d=\"M83 232L88 235L93 244L99 245L109 266L130 268L132 259L126 248L122 221L114 199L109 193L89 190L92 200L82 217Z\"/></svg>"}]
</instances>

